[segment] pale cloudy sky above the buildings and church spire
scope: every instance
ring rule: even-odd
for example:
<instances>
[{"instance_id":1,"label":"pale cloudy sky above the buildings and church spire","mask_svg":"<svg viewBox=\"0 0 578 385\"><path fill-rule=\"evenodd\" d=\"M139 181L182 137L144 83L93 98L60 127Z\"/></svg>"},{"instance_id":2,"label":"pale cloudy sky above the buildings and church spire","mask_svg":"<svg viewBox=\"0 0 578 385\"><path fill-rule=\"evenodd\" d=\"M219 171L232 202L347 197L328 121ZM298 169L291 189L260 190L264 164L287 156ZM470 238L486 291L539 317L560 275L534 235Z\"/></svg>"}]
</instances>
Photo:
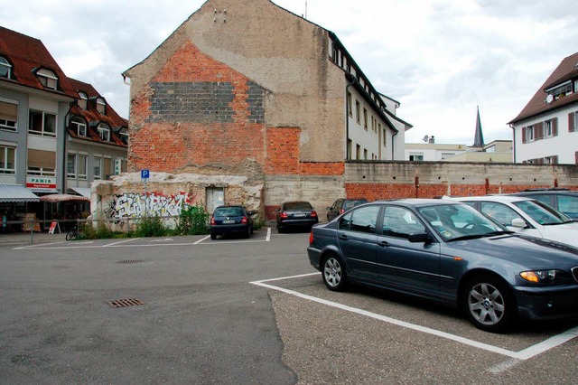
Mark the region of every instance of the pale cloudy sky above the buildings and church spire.
<instances>
[{"instance_id":1,"label":"pale cloudy sky above the buildings and church spire","mask_svg":"<svg viewBox=\"0 0 578 385\"><path fill-rule=\"evenodd\" d=\"M231 0L235 1L235 0ZM142 61L204 0L19 0L0 25L42 40L61 69L91 83L128 117L121 73ZM436 143L511 139L547 76L578 52L576 0L274 0L337 33L398 116ZM306 5L306 6L305 6Z\"/></svg>"}]
</instances>

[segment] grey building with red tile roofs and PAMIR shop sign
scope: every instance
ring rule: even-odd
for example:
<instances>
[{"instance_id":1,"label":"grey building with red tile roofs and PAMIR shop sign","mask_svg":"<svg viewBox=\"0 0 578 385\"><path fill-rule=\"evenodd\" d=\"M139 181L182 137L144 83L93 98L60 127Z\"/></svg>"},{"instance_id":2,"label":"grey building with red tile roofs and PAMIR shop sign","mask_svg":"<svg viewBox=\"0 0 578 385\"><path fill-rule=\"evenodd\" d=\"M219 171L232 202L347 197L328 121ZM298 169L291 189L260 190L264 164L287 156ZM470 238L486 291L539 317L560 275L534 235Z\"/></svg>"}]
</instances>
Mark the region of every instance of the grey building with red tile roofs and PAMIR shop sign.
<instances>
[{"instance_id":1,"label":"grey building with red tile roofs and PAMIR shop sign","mask_svg":"<svg viewBox=\"0 0 578 385\"><path fill-rule=\"evenodd\" d=\"M126 119L91 86L67 78L40 40L0 27L0 183L11 185L10 198L0 196L2 211L13 219L65 213L63 204L14 200L18 191L89 195L92 181L126 168L120 127L126 131Z\"/></svg>"}]
</instances>

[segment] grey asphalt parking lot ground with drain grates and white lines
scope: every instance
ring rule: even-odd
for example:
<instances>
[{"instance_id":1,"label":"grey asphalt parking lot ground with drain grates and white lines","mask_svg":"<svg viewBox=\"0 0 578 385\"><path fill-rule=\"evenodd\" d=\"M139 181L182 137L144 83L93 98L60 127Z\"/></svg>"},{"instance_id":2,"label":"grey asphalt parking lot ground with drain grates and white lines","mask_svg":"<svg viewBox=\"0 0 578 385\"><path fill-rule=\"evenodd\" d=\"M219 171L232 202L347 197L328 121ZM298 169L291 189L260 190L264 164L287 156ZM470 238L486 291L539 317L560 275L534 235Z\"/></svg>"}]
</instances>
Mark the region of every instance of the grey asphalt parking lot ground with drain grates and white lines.
<instances>
[{"instance_id":1,"label":"grey asphalt parking lot ground with drain grates and white lines","mask_svg":"<svg viewBox=\"0 0 578 385\"><path fill-rule=\"evenodd\" d=\"M0 245L0 383L574 383L578 321L333 293L308 234ZM115 307L119 306L119 307Z\"/></svg>"}]
</instances>

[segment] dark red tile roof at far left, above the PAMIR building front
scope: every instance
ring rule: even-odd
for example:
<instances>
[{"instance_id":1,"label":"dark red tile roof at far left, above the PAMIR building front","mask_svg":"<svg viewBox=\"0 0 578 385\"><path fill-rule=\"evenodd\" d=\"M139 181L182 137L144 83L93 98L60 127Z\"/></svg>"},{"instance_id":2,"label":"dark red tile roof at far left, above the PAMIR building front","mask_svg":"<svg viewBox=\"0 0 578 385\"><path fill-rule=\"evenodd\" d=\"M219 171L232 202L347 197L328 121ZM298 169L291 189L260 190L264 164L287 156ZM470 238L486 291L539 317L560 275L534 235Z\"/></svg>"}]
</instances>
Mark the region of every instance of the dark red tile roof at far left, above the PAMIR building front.
<instances>
[{"instance_id":1,"label":"dark red tile roof at far left, above the PAMIR building front","mask_svg":"<svg viewBox=\"0 0 578 385\"><path fill-rule=\"evenodd\" d=\"M70 86L70 82L62 72L61 67L40 40L0 27L0 55L12 64L12 79L0 78L0 81L64 94L72 98L79 97ZM58 78L56 90L45 89L42 86L36 76L36 70L41 68L54 72Z\"/></svg>"}]
</instances>

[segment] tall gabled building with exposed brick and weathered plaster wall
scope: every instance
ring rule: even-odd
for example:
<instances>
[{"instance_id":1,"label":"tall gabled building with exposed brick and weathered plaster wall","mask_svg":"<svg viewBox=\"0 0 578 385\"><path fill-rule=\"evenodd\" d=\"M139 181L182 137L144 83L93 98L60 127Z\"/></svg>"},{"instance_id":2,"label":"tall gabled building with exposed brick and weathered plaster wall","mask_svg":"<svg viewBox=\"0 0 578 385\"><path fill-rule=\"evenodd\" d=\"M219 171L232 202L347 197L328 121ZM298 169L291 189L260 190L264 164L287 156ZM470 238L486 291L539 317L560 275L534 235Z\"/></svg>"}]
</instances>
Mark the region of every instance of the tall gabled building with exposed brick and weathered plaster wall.
<instances>
[{"instance_id":1,"label":"tall gabled building with exposed brick and weathered plaster wall","mask_svg":"<svg viewBox=\"0 0 578 385\"><path fill-rule=\"evenodd\" d=\"M286 200L328 206L346 160L403 159L411 127L334 33L268 0L207 1L124 76L129 171L206 175L209 211L239 176L235 200L268 218Z\"/></svg>"}]
</instances>

